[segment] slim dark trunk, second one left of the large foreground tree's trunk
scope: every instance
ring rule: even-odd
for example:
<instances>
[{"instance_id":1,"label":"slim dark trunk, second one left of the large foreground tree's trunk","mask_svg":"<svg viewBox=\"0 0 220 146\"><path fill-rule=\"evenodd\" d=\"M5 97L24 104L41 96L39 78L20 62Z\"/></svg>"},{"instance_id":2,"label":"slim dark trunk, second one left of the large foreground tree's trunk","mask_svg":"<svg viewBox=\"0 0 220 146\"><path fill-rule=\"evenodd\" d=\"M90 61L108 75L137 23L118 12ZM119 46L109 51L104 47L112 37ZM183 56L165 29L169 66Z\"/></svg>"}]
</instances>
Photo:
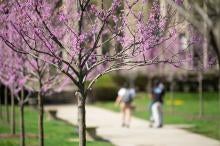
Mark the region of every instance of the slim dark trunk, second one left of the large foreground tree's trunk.
<instances>
[{"instance_id":1,"label":"slim dark trunk, second one left of the large foreground tree's trunk","mask_svg":"<svg viewBox=\"0 0 220 146\"><path fill-rule=\"evenodd\" d=\"M24 90L21 91L20 101L20 146L25 146L25 125L24 125Z\"/></svg>"}]
</instances>

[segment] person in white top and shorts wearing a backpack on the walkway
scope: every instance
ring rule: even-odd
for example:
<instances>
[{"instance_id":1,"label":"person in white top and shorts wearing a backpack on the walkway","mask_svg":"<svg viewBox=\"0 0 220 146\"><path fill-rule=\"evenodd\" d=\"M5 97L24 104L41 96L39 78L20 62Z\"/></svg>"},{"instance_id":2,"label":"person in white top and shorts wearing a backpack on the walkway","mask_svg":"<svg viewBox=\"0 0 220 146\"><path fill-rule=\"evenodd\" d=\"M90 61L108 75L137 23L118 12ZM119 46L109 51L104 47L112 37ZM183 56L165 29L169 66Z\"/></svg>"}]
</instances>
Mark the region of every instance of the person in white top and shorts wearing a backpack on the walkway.
<instances>
[{"instance_id":1,"label":"person in white top and shorts wearing a backpack on the walkway","mask_svg":"<svg viewBox=\"0 0 220 146\"><path fill-rule=\"evenodd\" d=\"M131 123L131 112L134 108L132 105L132 101L135 97L135 89L134 88L126 88L123 87L118 91L118 96L116 98L115 104L120 105L122 112L122 127L130 127Z\"/></svg>"}]
</instances>

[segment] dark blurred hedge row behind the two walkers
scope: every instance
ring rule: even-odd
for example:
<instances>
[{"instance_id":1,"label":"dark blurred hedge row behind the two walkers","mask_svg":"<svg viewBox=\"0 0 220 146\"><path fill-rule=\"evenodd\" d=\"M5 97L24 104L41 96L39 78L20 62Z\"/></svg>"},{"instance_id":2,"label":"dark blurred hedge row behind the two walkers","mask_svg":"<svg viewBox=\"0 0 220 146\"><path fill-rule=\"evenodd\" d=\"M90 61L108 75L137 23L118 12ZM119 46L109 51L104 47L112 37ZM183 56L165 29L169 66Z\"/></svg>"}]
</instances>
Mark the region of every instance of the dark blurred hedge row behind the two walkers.
<instances>
[{"instance_id":1,"label":"dark blurred hedge row behind the two walkers","mask_svg":"<svg viewBox=\"0 0 220 146\"><path fill-rule=\"evenodd\" d=\"M138 92L146 92L148 87L151 87L155 80L161 80L166 90L170 91L171 80L162 76L149 78L146 75L139 74L134 80L134 85ZM117 91L125 83L128 83L128 77L126 75L105 75L95 83L92 98L94 100L114 100L117 96ZM176 92L198 92L199 84L197 73L191 73L183 77L175 76L173 85L174 91ZM215 73L206 73L203 75L203 91L218 91L218 77Z\"/></svg>"}]
</instances>

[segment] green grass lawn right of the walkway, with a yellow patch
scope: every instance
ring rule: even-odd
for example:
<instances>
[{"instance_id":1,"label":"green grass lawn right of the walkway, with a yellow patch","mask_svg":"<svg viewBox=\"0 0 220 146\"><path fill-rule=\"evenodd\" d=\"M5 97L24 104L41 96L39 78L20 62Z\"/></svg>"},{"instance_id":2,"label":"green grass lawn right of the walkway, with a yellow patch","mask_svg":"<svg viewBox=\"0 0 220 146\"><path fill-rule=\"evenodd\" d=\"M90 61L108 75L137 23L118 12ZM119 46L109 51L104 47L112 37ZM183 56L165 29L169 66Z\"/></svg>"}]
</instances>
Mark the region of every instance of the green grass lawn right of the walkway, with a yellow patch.
<instances>
[{"instance_id":1,"label":"green grass lawn right of the walkway, with a yellow patch","mask_svg":"<svg viewBox=\"0 0 220 146\"><path fill-rule=\"evenodd\" d=\"M164 104L165 124L190 124L193 125L193 128L189 129L190 131L220 140L218 94L204 93L204 116L202 118L198 116L198 101L199 97L196 93L174 93L174 102L171 102L170 93L167 93ZM148 120L148 103L147 94L139 93L134 100L136 105L134 115ZM119 111L119 107L115 107L114 102L97 102L96 105L116 112Z\"/></svg>"}]
</instances>

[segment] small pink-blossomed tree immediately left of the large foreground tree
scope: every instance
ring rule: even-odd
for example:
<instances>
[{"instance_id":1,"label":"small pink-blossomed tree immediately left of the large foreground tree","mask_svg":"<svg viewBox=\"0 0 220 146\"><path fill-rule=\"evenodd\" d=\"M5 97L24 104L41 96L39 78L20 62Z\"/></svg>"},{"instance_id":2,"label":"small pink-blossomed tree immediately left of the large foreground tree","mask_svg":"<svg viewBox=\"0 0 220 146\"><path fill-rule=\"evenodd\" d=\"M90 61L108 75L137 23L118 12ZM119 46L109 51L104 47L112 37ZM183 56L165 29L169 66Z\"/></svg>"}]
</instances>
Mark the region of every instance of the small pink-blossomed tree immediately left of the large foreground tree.
<instances>
[{"instance_id":1,"label":"small pink-blossomed tree immediately left of the large foreground tree","mask_svg":"<svg viewBox=\"0 0 220 146\"><path fill-rule=\"evenodd\" d=\"M36 54L40 57L40 54ZM63 79L50 64L42 61L40 58L26 58L25 69L28 70L28 80L25 88L38 93L38 110L39 110L39 143L44 145L44 97L48 95L48 92L57 87ZM49 59L48 59L49 60ZM62 84L60 84L61 86ZM62 88L62 87L60 87Z\"/></svg>"}]
</instances>

